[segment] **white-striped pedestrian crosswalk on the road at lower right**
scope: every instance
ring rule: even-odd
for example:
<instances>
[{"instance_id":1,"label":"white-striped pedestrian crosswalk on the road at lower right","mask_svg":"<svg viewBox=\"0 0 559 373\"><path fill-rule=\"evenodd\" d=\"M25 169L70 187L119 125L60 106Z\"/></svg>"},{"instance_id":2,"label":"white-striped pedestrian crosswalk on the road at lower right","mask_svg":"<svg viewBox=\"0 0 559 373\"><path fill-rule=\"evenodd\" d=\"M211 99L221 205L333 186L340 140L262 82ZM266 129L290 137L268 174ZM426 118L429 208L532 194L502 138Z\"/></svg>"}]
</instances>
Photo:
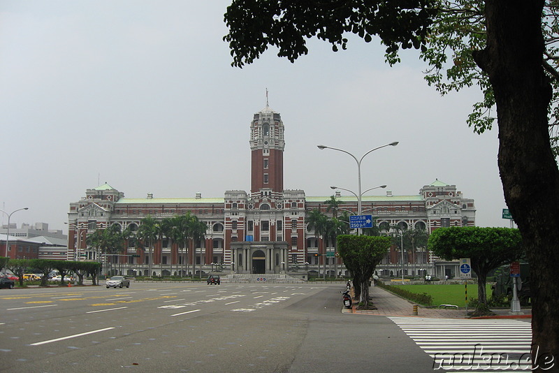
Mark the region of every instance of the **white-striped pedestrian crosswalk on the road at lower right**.
<instances>
[{"instance_id":1,"label":"white-striped pedestrian crosswalk on the road at lower right","mask_svg":"<svg viewBox=\"0 0 559 373\"><path fill-rule=\"evenodd\" d=\"M514 319L389 317L444 372L531 372L532 329Z\"/></svg>"}]
</instances>

